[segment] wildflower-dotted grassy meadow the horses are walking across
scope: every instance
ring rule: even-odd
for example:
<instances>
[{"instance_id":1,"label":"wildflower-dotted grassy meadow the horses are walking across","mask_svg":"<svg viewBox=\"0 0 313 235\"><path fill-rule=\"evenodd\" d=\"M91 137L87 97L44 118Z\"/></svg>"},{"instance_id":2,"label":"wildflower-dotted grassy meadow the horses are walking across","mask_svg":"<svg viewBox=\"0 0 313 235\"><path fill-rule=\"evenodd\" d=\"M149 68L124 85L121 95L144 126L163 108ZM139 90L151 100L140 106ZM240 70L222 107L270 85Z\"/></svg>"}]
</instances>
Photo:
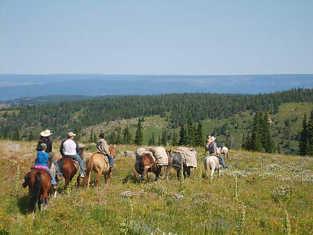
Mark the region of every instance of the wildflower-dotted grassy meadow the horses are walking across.
<instances>
[{"instance_id":1,"label":"wildflower-dotted grassy meadow the horses are walking across","mask_svg":"<svg viewBox=\"0 0 313 235\"><path fill-rule=\"evenodd\" d=\"M60 188L29 216L21 184L35 145L0 141L0 234L313 234L312 157L232 151L210 184L198 149L191 178L172 170L166 181L163 169L139 183L134 157L122 154L136 147L119 145L111 186Z\"/></svg>"}]
</instances>

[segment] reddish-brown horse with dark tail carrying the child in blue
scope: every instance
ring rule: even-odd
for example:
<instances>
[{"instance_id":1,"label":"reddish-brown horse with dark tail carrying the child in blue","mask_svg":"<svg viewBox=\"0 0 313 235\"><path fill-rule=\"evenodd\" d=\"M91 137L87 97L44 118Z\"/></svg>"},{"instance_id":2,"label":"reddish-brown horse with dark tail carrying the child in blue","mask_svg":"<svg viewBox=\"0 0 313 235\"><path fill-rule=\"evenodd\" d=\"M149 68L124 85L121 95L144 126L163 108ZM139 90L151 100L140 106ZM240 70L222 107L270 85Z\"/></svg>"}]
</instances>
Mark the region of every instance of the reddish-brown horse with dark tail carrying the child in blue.
<instances>
[{"instance_id":1,"label":"reddish-brown horse with dark tail carrying the child in blue","mask_svg":"<svg viewBox=\"0 0 313 235\"><path fill-rule=\"evenodd\" d=\"M45 209L49 201L51 190L51 177L48 172L33 169L29 172L27 184L29 185L29 213L35 213L38 202L39 211Z\"/></svg>"}]
</instances>

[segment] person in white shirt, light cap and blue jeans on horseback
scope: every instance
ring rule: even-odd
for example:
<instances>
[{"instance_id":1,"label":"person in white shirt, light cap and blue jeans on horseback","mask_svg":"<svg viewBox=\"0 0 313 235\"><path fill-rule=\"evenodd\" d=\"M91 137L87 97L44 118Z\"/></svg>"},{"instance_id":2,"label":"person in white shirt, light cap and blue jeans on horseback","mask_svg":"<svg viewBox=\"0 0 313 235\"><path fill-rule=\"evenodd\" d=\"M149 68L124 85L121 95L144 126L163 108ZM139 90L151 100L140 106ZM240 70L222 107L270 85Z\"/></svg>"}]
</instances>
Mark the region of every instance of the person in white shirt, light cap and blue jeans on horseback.
<instances>
[{"instance_id":1,"label":"person in white shirt, light cap and blue jeans on horseback","mask_svg":"<svg viewBox=\"0 0 313 235\"><path fill-rule=\"evenodd\" d=\"M79 152L79 145L74 140L74 136L76 136L76 134L74 134L73 132L67 133L67 140L64 140L61 143L60 153L65 158L70 158L78 161L80 177L85 178L86 173L85 170L83 170L83 159L81 159L81 156L77 154Z\"/></svg>"}]
</instances>

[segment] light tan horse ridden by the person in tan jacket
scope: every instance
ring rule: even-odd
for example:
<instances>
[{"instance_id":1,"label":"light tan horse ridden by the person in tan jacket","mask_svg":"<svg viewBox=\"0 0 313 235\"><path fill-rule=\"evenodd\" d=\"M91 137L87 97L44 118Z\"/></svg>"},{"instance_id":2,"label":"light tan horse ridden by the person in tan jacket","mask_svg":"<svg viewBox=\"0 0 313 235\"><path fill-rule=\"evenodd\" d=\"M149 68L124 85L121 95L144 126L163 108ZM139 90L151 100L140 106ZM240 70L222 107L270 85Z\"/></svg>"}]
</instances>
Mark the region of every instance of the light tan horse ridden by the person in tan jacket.
<instances>
[{"instance_id":1,"label":"light tan horse ridden by the person in tan jacket","mask_svg":"<svg viewBox=\"0 0 313 235\"><path fill-rule=\"evenodd\" d=\"M115 156L115 147L116 145L110 145L109 147L110 156L112 156L113 159ZM97 174L96 185L99 184L101 175L104 175L106 186L110 185L112 172L109 164L109 159L107 159L107 157L104 156L104 154L98 152L93 153L90 156L90 158L86 161L86 165L87 165L86 175L88 180L87 188L89 188L90 175L92 171L94 171ZM86 181L86 179L84 181Z\"/></svg>"}]
</instances>

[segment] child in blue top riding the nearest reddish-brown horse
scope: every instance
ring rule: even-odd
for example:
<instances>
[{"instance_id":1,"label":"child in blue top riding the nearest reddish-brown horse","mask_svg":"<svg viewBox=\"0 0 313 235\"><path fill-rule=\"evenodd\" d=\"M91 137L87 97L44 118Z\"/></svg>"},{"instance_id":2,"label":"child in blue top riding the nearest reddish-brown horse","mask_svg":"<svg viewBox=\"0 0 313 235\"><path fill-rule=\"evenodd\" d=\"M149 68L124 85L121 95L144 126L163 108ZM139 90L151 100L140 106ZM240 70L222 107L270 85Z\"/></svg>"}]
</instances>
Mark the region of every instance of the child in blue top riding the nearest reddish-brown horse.
<instances>
[{"instance_id":1,"label":"child in blue top riding the nearest reddish-brown horse","mask_svg":"<svg viewBox=\"0 0 313 235\"><path fill-rule=\"evenodd\" d=\"M54 175L52 175L50 169L47 167L47 163L49 161L49 154L47 154L46 149L47 149L47 144L41 143L40 150L37 152L37 159L35 160L35 165L33 166L32 169L41 169L41 170L45 170L46 172L48 172L51 177L52 188L56 190L58 189L58 184L56 184L56 179L54 178ZM27 186L28 178L29 178L29 174L27 174L24 177L24 183L23 183L24 188L26 188Z\"/></svg>"}]
</instances>

